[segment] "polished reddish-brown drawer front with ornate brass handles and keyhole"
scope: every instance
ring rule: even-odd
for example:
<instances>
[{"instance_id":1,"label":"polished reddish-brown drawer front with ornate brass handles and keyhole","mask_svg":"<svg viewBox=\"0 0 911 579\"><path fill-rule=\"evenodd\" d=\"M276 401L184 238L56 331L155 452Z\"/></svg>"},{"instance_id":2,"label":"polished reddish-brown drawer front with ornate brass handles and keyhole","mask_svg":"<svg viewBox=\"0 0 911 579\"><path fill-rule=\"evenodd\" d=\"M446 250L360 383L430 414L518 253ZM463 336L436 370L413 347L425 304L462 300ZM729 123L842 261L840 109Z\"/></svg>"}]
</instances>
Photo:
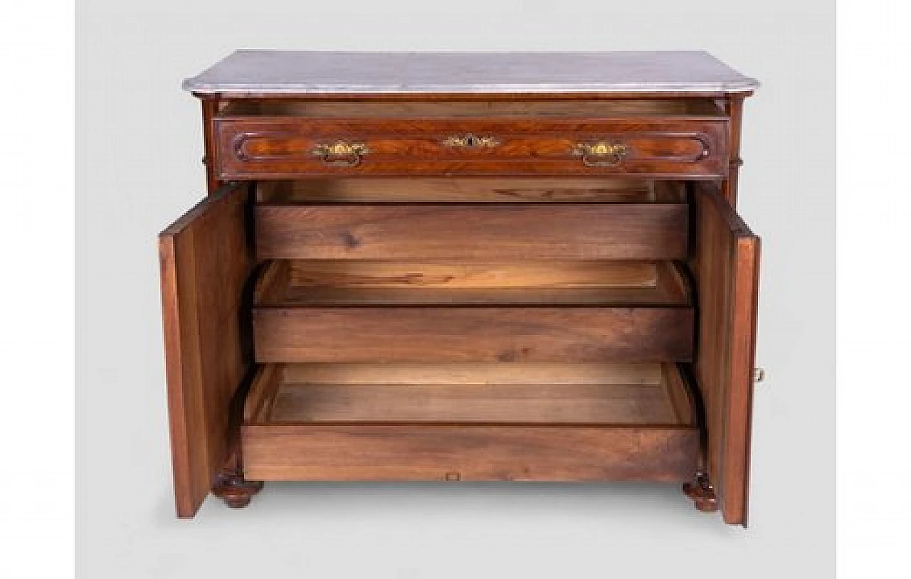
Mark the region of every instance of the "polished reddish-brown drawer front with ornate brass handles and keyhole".
<instances>
[{"instance_id":1,"label":"polished reddish-brown drawer front with ornate brass handles and keyhole","mask_svg":"<svg viewBox=\"0 0 911 579\"><path fill-rule=\"evenodd\" d=\"M225 117L221 178L636 175L721 178L727 120Z\"/></svg>"}]
</instances>

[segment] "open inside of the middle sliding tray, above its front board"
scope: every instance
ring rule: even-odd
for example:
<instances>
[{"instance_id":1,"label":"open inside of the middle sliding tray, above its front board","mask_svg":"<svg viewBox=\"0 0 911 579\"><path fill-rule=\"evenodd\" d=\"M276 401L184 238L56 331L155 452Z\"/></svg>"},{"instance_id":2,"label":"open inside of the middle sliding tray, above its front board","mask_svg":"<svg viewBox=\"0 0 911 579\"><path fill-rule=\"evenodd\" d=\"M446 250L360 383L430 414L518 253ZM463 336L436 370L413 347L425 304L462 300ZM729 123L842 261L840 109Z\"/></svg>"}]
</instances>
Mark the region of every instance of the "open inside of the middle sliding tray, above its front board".
<instances>
[{"instance_id":1,"label":"open inside of the middle sliding tray, above its front board","mask_svg":"<svg viewBox=\"0 0 911 579\"><path fill-rule=\"evenodd\" d=\"M257 306L616 305L686 306L690 288L669 261L446 263L274 260Z\"/></svg>"}]
</instances>

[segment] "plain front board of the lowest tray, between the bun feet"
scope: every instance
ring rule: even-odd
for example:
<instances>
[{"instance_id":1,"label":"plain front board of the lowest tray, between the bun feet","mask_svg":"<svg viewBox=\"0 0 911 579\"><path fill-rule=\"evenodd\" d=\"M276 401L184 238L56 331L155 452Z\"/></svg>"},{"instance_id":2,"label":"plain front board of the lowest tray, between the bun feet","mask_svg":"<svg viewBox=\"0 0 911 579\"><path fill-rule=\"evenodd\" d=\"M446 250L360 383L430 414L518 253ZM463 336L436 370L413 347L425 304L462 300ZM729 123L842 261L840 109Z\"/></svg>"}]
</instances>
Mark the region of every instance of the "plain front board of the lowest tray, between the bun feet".
<instances>
[{"instance_id":1,"label":"plain front board of the lowest tray, between the bun feet","mask_svg":"<svg viewBox=\"0 0 911 579\"><path fill-rule=\"evenodd\" d=\"M680 427L245 425L261 481L668 481L691 477L699 432Z\"/></svg>"}]
</instances>

